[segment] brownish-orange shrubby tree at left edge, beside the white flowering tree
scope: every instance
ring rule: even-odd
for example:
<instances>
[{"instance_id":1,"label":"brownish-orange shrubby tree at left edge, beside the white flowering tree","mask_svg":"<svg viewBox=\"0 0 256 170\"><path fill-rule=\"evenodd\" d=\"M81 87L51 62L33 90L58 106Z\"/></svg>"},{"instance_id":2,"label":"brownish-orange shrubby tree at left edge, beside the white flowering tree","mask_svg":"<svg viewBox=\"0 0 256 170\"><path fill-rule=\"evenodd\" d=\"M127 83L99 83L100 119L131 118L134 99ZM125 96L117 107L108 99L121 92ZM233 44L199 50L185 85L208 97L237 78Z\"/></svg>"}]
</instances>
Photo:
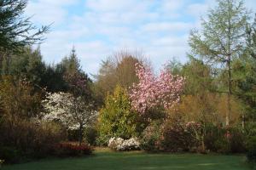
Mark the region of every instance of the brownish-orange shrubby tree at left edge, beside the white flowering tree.
<instances>
[{"instance_id":1,"label":"brownish-orange shrubby tree at left edge, beside the white flowering tree","mask_svg":"<svg viewBox=\"0 0 256 170\"><path fill-rule=\"evenodd\" d=\"M41 111L41 99L41 93L33 88L32 83L12 76L1 77L0 115L5 114L12 120L38 116Z\"/></svg>"}]
</instances>

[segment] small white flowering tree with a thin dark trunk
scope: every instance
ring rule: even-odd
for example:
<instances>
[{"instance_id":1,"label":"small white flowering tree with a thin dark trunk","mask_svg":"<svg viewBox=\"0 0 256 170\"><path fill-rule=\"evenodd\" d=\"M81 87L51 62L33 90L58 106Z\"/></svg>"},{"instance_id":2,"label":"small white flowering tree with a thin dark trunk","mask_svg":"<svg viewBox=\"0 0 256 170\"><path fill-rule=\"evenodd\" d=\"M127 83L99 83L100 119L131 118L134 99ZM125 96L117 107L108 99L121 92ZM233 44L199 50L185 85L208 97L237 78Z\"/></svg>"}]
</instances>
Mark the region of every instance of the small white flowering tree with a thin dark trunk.
<instances>
[{"instance_id":1,"label":"small white flowering tree with a thin dark trunk","mask_svg":"<svg viewBox=\"0 0 256 170\"><path fill-rule=\"evenodd\" d=\"M92 104L86 103L81 97L74 97L73 94L47 94L43 105L43 119L61 122L67 129L78 129L79 144L82 143L84 127L90 126L97 115Z\"/></svg>"}]
</instances>

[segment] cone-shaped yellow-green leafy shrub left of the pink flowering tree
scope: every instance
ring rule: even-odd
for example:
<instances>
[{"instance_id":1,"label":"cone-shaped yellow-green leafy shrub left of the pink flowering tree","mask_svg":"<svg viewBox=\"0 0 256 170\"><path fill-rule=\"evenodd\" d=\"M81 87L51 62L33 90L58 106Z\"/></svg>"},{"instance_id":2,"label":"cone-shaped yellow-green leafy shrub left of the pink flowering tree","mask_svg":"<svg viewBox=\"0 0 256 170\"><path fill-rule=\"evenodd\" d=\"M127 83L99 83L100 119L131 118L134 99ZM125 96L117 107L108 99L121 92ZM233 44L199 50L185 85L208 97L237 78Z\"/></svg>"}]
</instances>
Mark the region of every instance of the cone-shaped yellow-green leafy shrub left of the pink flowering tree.
<instances>
[{"instance_id":1,"label":"cone-shaped yellow-green leafy shrub left of the pink flowering tree","mask_svg":"<svg viewBox=\"0 0 256 170\"><path fill-rule=\"evenodd\" d=\"M107 96L100 111L99 133L102 138L120 137L129 139L137 134L137 113L131 111L131 104L125 88L117 86L113 95Z\"/></svg>"}]
</instances>

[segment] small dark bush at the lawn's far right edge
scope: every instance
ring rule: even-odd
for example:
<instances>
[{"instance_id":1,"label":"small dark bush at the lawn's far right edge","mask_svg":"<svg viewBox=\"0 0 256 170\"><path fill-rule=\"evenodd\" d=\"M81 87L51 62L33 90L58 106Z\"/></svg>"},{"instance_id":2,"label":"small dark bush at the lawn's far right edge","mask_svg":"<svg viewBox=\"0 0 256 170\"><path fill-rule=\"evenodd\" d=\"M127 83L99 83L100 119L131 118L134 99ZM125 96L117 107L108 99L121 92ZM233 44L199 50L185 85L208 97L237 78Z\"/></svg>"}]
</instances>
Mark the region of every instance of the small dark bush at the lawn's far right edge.
<instances>
[{"instance_id":1,"label":"small dark bush at the lawn's far right edge","mask_svg":"<svg viewBox=\"0 0 256 170\"><path fill-rule=\"evenodd\" d=\"M256 163L256 136L247 140L247 160Z\"/></svg>"}]
</instances>

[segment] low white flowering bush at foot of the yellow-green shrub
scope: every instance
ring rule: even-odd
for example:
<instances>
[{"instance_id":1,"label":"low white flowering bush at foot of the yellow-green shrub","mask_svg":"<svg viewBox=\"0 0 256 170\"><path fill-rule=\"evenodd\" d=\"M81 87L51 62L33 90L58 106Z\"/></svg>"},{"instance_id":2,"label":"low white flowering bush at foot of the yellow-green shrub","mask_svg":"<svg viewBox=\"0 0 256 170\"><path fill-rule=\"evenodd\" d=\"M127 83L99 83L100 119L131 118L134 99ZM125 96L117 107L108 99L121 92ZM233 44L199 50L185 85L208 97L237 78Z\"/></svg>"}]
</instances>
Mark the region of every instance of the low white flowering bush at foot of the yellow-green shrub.
<instances>
[{"instance_id":1,"label":"low white flowering bush at foot of the yellow-green shrub","mask_svg":"<svg viewBox=\"0 0 256 170\"><path fill-rule=\"evenodd\" d=\"M109 139L108 147L112 150L140 150L140 143L136 138L125 140L113 137Z\"/></svg>"}]
</instances>

